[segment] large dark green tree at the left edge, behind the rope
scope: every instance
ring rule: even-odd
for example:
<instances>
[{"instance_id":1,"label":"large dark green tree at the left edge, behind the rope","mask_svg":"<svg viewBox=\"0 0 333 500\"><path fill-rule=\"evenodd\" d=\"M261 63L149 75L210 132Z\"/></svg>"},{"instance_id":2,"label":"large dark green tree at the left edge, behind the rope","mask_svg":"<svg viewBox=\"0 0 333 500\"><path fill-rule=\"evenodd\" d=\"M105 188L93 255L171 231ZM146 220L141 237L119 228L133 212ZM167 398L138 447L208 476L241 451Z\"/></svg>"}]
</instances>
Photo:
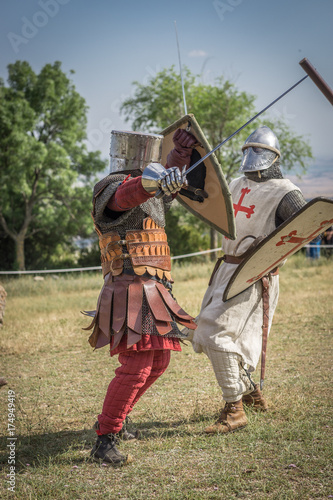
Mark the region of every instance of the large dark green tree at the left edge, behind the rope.
<instances>
[{"instance_id":1,"label":"large dark green tree at the left edge, behind the rope","mask_svg":"<svg viewBox=\"0 0 333 500\"><path fill-rule=\"evenodd\" d=\"M27 239L45 263L91 231L91 188L105 162L86 149L87 109L60 62L36 74L17 61L8 86L0 81L0 227L19 270Z\"/></svg>"}]
</instances>

